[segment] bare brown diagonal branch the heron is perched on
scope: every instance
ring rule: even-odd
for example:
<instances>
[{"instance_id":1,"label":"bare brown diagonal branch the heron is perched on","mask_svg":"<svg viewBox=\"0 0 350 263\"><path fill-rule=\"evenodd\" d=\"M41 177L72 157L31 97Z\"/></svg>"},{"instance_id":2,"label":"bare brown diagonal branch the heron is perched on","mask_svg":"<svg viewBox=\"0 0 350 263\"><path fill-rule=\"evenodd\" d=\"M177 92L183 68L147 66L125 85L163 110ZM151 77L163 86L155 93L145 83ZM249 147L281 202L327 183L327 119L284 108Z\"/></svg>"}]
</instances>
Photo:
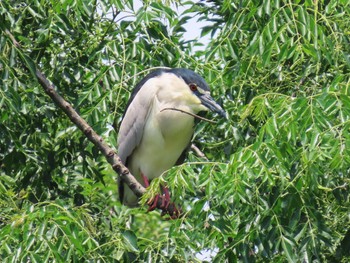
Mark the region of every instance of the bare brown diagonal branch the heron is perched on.
<instances>
[{"instance_id":1,"label":"bare brown diagonal branch the heron is perched on","mask_svg":"<svg viewBox=\"0 0 350 263\"><path fill-rule=\"evenodd\" d=\"M12 41L12 44L22 53L21 45L16 41L14 36L6 30L6 35ZM23 58L24 56L22 56ZM28 62L28 58L24 59L24 63ZM128 187L133 191L137 197L141 197L146 189L135 179L135 177L130 173L129 169L122 163L119 156L115 151L108 146L108 144L99 136L92 127L74 110L72 105L68 103L60 94L55 90L54 85L52 85L45 75L38 69L33 62L31 66L35 66L35 75L38 79L38 82L44 89L47 95L54 101L54 103L63 110L63 112L68 116L68 118L84 133L84 135L92 142L105 156L108 163L112 166L113 170L120 176L121 180L125 182ZM29 68L29 66L26 64ZM175 218L178 215L178 210L176 209L175 204L170 204L168 207L164 207L163 196L157 200L155 206L162 210L162 214L168 214L171 218Z\"/></svg>"}]
</instances>

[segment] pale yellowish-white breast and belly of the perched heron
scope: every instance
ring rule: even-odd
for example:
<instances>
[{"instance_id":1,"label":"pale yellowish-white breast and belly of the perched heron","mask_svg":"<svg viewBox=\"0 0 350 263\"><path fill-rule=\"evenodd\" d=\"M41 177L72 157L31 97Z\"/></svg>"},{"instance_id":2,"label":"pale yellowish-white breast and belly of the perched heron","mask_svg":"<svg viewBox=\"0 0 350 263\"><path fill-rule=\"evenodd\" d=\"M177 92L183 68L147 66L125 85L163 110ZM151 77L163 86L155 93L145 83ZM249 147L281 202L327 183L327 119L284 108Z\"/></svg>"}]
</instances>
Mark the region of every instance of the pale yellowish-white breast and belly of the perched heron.
<instances>
[{"instance_id":1,"label":"pale yellowish-white breast and belly of the perched heron","mask_svg":"<svg viewBox=\"0 0 350 263\"><path fill-rule=\"evenodd\" d=\"M190 143L193 125L192 116L153 105L132 156L132 170L153 179L170 169Z\"/></svg>"}]
</instances>

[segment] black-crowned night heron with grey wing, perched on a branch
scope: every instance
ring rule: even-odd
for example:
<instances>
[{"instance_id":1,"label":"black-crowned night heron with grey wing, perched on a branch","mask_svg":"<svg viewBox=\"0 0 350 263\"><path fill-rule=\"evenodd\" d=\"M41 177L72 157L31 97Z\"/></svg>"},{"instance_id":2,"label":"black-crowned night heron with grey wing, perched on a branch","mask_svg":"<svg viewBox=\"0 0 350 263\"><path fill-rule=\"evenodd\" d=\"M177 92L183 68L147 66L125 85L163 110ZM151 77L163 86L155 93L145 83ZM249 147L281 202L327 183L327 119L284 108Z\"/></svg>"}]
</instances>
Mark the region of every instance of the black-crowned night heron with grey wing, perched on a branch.
<instances>
[{"instance_id":1,"label":"black-crowned night heron with grey wing, perched on a branch","mask_svg":"<svg viewBox=\"0 0 350 263\"><path fill-rule=\"evenodd\" d=\"M208 110L226 115L201 76L181 68L153 71L137 84L126 106L118 135L119 157L147 187L183 159L193 136L194 115ZM169 202L168 190L163 191ZM123 182L119 182L119 197L124 205L138 205Z\"/></svg>"}]
</instances>

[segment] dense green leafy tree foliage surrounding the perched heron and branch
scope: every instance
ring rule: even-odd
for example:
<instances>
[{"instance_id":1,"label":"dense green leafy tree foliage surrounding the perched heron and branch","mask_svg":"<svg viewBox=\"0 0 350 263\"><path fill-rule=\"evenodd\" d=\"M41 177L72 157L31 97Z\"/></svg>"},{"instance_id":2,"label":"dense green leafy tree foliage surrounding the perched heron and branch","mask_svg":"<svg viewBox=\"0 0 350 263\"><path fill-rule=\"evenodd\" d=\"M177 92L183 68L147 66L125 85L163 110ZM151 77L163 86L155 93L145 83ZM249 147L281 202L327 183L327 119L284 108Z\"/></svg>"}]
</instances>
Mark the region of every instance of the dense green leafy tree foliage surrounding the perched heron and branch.
<instances>
[{"instance_id":1,"label":"dense green leafy tree foliage surrounding the perched heron and branch","mask_svg":"<svg viewBox=\"0 0 350 263\"><path fill-rule=\"evenodd\" d=\"M190 19L209 43L184 38ZM1 1L0 257L349 261L349 28L346 0ZM117 175L34 64L114 147L149 70L206 78L229 116L196 127L210 161L191 152L147 195L165 180L184 218L120 205Z\"/></svg>"}]
</instances>

